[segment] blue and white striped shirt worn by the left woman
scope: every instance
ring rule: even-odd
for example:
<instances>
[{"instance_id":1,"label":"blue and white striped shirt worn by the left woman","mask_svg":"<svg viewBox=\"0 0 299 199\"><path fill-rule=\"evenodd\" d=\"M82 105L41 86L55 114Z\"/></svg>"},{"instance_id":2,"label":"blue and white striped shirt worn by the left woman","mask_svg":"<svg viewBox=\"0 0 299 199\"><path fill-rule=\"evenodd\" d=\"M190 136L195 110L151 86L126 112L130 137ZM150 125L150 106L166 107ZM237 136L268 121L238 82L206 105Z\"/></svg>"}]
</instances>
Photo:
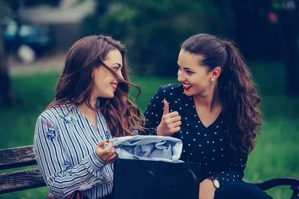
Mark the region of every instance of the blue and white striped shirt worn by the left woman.
<instances>
[{"instance_id":1,"label":"blue and white striped shirt worn by the left woman","mask_svg":"<svg viewBox=\"0 0 299 199\"><path fill-rule=\"evenodd\" d=\"M71 105L50 108L37 118L34 147L41 174L56 198L66 198L81 190L89 199L112 193L113 164L95 153L99 140L112 135L101 112L98 130Z\"/></svg>"}]
</instances>

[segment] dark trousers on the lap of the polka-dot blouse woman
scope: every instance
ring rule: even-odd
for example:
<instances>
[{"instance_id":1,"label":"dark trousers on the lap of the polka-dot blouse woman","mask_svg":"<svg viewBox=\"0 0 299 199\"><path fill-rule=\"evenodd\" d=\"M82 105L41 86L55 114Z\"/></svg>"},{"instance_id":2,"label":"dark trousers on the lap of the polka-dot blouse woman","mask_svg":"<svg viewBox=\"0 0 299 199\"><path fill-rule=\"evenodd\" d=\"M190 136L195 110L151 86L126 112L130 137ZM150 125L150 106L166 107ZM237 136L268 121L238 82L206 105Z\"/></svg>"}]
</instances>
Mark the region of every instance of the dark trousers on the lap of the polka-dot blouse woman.
<instances>
[{"instance_id":1,"label":"dark trousers on the lap of the polka-dot blouse woman","mask_svg":"<svg viewBox=\"0 0 299 199\"><path fill-rule=\"evenodd\" d=\"M230 183L215 192L214 199L273 199L260 188L249 183Z\"/></svg>"}]
</instances>

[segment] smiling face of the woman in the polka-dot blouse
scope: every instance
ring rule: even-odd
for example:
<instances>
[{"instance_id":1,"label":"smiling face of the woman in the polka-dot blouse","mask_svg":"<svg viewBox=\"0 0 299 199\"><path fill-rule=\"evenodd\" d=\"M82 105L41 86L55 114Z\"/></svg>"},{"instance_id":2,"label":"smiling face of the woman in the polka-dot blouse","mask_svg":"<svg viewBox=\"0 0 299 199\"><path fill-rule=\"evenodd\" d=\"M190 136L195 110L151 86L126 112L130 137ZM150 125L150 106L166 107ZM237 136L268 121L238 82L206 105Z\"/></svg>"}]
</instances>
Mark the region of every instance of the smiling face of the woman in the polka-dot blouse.
<instances>
[{"instance_id":1,"label":"smiling face of the woman in the polka-dot blouse","mask_svg":"<svg viewBox=\"0 0 299 199\"><path fill-rule=\"evenodd\" d=\"M194 55L181 49L177 64L179 67L177 81L183 83L184 93L187 96L204 94L212 88L212 72L202 66L201 55Z\"/></svg>"}]
</instances>

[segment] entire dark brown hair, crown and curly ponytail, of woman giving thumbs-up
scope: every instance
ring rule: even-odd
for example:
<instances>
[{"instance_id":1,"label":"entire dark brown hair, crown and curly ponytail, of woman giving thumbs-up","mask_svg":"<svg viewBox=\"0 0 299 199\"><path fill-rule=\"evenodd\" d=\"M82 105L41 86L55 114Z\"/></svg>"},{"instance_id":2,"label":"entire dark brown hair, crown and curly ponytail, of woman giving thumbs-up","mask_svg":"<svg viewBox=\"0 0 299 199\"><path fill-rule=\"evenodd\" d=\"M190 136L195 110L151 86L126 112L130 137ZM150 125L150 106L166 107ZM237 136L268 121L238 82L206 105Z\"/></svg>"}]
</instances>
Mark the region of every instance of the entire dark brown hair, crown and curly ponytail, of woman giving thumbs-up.
<instances>
[{"instance_id":1,"label":"entire dark brown hair, crown and curly ponytail, of woman giving thumbs-up","mask_svg":"<svg viewBox=\"0 0 299 199\"><path fill-rule=\"evenodd\" d=\"M256 135L261 134L261 98L239 50L232 42L209 34L190 37L182 43L181 49L203 56L200 64L207 72L221 68L218 86L230 146L236 153L250 153L255 147Z\"/></svg>"}]
</instances>

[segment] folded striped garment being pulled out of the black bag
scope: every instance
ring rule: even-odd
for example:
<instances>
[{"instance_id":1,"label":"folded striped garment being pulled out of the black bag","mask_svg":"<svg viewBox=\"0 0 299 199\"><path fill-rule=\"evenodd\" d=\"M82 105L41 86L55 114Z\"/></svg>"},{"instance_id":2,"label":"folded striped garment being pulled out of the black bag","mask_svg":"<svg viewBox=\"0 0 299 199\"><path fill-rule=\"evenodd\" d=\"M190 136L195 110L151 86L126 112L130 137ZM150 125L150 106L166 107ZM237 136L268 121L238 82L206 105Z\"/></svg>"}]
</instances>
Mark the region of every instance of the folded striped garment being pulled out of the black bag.
<instances>
[{"instance_id":1,"label":"folded striped garment being pulled out of the black bag","mask_svg":"<svg viewBox=\"0 0 299 199\"><path fill-rule=\"evenodd\" d=\"M155 160L183 163L179 160L182 141L173 137L135 135L111 139L115 153L120 159ZM105 147L108 143L105 143Z\"/></svg>"}]
</instances>

